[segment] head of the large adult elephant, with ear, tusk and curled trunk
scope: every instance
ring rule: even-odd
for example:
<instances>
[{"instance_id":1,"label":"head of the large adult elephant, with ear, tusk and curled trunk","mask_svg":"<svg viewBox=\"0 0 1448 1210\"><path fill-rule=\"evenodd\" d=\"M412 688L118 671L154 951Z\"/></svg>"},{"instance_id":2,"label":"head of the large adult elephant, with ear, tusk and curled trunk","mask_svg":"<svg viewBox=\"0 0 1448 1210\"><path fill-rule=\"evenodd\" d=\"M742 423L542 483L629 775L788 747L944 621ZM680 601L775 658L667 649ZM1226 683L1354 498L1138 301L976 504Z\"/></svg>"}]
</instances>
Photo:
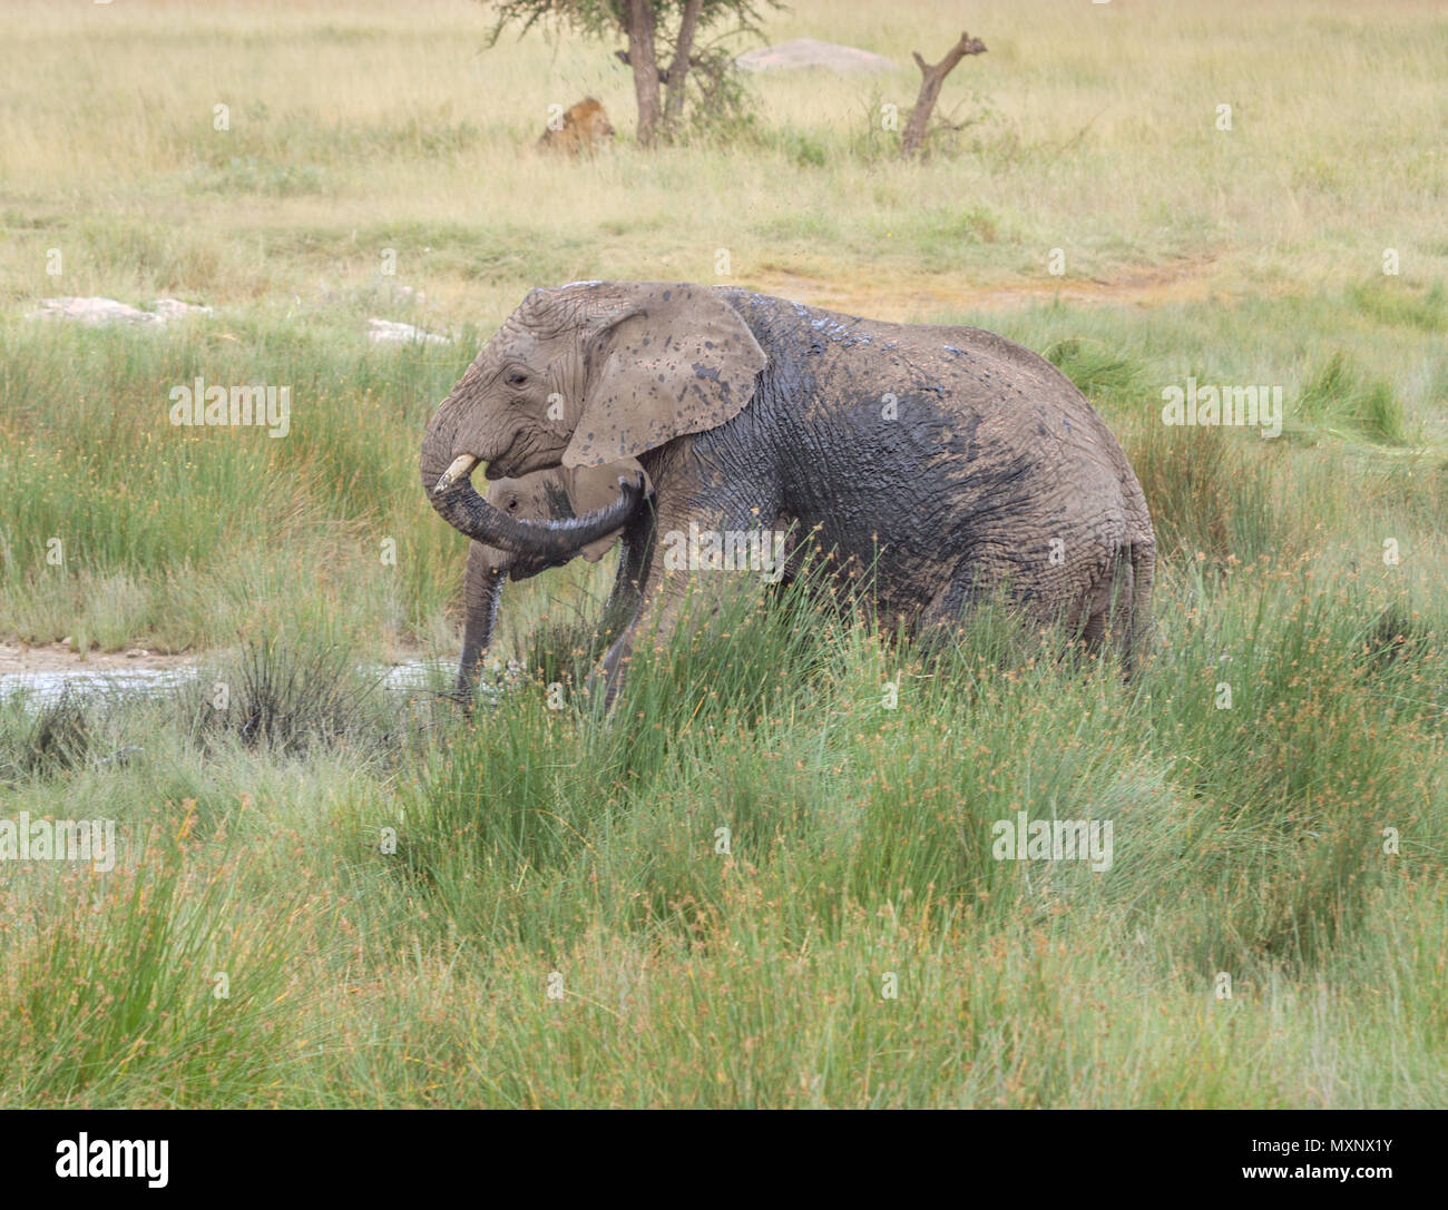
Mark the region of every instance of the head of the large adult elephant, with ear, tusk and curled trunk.
<instances>
[{"instance_id":1,"label":"head of the large adult elephant, with ear, tusk and curled trunk","mask_svg":"<svg viewBox=\"0 0 1448 1210\"><path fill-rule=\"evenodd\" d=\"M763 366L753 333L707 287L534 289L429 423L423 485L439 514L475 541L556 559L569 543L576 549L617 528L637 508L641 488L631 499L628 491L620 495L621 515L529 527L510 524L478 496L473 468L485 463L497 481L637 457L737 415Z\"/></svg>"}]
</instances>

